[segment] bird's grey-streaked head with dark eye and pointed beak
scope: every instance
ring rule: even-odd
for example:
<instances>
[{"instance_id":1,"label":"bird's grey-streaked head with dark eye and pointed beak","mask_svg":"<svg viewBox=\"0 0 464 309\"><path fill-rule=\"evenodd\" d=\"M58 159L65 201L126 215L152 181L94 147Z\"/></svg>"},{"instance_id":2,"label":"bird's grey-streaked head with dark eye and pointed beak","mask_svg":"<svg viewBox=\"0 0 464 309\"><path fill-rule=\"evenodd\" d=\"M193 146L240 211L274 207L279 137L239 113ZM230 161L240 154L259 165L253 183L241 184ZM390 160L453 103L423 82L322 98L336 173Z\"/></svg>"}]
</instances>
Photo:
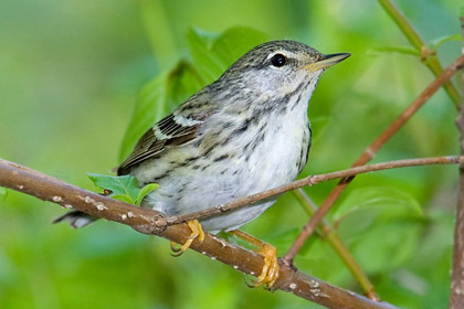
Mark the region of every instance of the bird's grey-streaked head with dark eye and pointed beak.
<instances>
[{"instance_id":1,"label":"bird's grey-streaked head with dark eye and pointed beak","mask_svg":"<svg viewBox=\"0 0 464 309\"><path fill-rule=\"evenodd\" d=\"M308 100L320 74L348 56L348 53L325 55L296 41L271 41L244 54L218 83L222 92L228 89L224 93L229 96L240 94L255 102L305 93Z\"/></svg>"}]
</instances>

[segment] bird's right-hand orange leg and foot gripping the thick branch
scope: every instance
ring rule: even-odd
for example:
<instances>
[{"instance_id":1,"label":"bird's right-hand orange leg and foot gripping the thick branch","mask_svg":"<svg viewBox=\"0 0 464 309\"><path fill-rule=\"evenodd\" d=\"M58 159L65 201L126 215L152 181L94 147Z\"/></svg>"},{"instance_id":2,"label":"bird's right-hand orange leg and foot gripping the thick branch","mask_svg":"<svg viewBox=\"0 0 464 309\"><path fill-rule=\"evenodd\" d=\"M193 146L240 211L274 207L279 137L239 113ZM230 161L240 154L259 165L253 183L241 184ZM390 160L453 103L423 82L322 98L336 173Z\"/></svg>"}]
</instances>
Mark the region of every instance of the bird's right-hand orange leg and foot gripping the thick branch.
<instances>
[{"instance_id":1,"label":"bird's right-hand orange leg and foot gripping the thick branch","mask_svg":"<svg viewBox=\"0 0 464 309\"><path fill-rule=\"evenodd\" d=\"M233 230L231 233L257 247L259 249L256 253L264 257L264 265L261 270L261 275L253 281L252 286L260 287L262 285L266 285L267 288L272 288L278 278L280 271L277 251L275 247L239 230Z\"/></svg>"}]
</instances>

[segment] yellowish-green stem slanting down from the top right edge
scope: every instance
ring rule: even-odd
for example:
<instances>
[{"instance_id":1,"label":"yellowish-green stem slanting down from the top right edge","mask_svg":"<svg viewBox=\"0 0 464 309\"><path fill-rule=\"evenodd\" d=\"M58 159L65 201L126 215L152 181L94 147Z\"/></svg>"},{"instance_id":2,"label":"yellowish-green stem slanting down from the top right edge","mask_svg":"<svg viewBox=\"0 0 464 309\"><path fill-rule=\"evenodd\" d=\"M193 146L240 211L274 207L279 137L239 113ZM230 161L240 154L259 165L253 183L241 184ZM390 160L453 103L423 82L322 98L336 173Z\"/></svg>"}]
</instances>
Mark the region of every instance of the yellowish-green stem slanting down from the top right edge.
<instances>
[{"instance_id":1,"label":"yellowish-green stem slanting down from the top right edge","mask_svg":"<svg viewBox=\"0 0 464 309\"><path fill-rule=\"evenodd\" d=\"M380 6L387 11L391 19L397 23L400 30L403 32L408 41L421 53L421 61L429 67L435 76L439 76L443 72L443 67L435 54L432 51L419 33L414 30L412 24L408 21L404 14L398 9L392 0L379 0ZM454 103L456 109L460 108L461 97L456 87L451 82L446 82L443 85L451 100Z\"/></svg>"}]
</instances>

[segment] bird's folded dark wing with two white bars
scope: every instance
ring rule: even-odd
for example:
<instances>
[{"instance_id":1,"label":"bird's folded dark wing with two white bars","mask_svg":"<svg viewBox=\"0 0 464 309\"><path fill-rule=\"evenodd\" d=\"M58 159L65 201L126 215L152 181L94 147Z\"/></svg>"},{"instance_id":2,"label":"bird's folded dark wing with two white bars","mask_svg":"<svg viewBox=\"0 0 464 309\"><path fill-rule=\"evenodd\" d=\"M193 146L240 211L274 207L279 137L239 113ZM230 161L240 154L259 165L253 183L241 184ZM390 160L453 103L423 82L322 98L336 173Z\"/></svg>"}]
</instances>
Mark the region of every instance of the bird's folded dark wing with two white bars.
<instances>
[{"instance_id":1,"label":"bird's folded dark wing with two white bars","mask_svg":"<svg viewBox=\"0 0 464 309\"><path fill-rule=\"evenodd\" d=\"M127 174L130 168L154 158L168 147L181 146L192 140L204 119L214 111L213 104L201 104L199 99L188 100L138 140L130 156L117 169L117 173Z\"/></svg>"}]
</instances>

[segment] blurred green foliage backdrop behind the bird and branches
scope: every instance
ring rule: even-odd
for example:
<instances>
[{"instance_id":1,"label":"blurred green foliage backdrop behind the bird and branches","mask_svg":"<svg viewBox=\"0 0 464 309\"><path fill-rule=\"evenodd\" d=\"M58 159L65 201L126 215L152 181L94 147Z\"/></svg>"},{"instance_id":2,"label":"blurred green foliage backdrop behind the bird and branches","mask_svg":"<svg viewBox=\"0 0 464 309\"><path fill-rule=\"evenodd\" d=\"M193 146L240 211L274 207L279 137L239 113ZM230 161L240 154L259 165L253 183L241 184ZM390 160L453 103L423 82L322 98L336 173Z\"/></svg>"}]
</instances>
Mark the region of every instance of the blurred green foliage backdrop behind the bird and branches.
<instances>
[{"instance_id":1,"label":"blurred green foliage backdrop behind the bird and branches","mask_svg":"<svg viewBox=\"0 0 464 309\"><path fill-rule=\"evenodd\" d=\"M426 42L460 33L461 0L398 4ZM187 34L214 40L238 25L352 54L323 76L312 98L315 139L303 175L349 167L433 79L416 57L375 52L408 44L376 1L3 0L0 157L95 190L86 172L109 173L119 163L143 86L180 58L197 64ZM461 44L440 46L443 65L460 55ZM235 53L243 47L231 46ZM181 103L171 100L162 111ZM376 161L456 154L455 117L440 90ZM334 185L307 192L321 202ZM382 299L446 308L456 194L455 167L384 171L359 177L328 219ZM0 196L0 308L319 308L250 289L243 275L193 252L173 258L168 242L120 224L51 225L62 213L13 191ZM287 193L244 230L283 255L306 221ZM296 265L361 292L317 237Z\"/></svg>"}]
</instances>

